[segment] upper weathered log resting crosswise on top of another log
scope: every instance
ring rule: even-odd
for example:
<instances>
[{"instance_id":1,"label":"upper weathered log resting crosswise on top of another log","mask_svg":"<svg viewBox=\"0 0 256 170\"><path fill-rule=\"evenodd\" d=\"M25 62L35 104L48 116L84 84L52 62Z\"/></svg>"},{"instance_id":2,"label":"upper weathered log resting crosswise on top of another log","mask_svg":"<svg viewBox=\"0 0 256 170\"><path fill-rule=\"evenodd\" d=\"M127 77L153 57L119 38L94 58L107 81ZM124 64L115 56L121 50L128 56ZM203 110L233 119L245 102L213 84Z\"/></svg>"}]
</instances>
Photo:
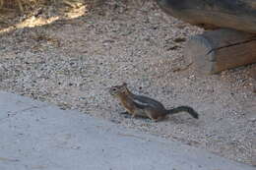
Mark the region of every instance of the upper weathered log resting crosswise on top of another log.
<instances>
[{"instance_id":1,"label":"upper weathered log resting crosswise on top of another log","mask_svg":"<svg viewBox=\"0 0 256 170\"><path fill-rule=\"evenodd\" d=\"M255 0L156 0L167 14L202 28L256 33Z\"/></svg>"}]
</instances>

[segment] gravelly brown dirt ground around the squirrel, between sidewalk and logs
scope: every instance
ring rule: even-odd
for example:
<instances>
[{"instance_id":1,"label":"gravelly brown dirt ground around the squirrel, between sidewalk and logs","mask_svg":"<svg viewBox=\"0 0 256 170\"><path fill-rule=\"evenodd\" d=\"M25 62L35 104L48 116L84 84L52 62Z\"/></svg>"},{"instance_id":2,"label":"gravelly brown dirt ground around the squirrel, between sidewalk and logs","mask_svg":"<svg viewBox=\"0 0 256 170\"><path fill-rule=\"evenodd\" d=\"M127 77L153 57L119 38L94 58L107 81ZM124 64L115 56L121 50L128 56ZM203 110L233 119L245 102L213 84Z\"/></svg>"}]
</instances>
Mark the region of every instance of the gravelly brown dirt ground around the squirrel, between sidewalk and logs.
<instances>
[{"instance_id":1,"label":"gravelly brown dirt ground around the squirrel, between sidewalk and logs","mask_svg":"<svg viewBox=\"0 0 256 170\"><path fill-rule=\"evenodd\" d=\"M197 75L193 64L186 69L184 44L202 31L153 3L136 8L114 0L82 17L5 29L0 89L256 165L256 65L214 76ZM107 90L123 82L166 108L192 106L200 119L186 113L158 123L125 118Z\"/></svg>"}]
</instances>

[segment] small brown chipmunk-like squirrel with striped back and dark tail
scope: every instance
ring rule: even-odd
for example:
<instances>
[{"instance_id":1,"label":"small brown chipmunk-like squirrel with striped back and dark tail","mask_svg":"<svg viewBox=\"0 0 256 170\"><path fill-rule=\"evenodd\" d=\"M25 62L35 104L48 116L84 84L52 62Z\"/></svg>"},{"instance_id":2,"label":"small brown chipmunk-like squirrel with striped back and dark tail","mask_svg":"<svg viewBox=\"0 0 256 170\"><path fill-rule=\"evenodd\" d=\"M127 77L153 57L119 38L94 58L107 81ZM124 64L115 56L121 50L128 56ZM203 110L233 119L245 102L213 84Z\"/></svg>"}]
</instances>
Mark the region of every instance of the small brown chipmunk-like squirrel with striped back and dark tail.
<instances>
[{"instance_id":1,"label":"small brown chipmunk-like squirrel with striped back and dark tail","mask_svg":"<svg viewBox=\"0 0 256 170\"><path fill-rule=\"evenodd\" d=\"M198 119L198 113L189 106L178 106L166 110L164 106L157 100L147 96L133 94L127 87L127 84L111 86L109 92L117 97L127 112L132 117L141 116L148 117L154 121L163 119L168 114L175 114L186 111L192 117Z\"/></svg>"}]
</instances>

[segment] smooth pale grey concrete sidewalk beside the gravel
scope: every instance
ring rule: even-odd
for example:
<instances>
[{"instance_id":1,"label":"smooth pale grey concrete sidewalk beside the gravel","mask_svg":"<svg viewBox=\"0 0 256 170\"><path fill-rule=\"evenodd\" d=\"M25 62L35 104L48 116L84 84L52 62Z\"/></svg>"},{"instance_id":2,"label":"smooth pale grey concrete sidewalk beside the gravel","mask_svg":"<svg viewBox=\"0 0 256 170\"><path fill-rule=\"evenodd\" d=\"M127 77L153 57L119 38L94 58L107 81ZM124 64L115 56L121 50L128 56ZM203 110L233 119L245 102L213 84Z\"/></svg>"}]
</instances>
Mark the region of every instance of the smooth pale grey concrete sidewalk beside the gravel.
<instances>
[{"instance_id":1,"label":"smooth pale grey concrete sidewalk beside the gravel","mask_svg":"<svg viewBox=\"0 0 256 170\"><path fill-rule=\"evenodd\" d=\"M7 92L0 134L0 170L256 169Z\"/></svg>"}]
</instances>

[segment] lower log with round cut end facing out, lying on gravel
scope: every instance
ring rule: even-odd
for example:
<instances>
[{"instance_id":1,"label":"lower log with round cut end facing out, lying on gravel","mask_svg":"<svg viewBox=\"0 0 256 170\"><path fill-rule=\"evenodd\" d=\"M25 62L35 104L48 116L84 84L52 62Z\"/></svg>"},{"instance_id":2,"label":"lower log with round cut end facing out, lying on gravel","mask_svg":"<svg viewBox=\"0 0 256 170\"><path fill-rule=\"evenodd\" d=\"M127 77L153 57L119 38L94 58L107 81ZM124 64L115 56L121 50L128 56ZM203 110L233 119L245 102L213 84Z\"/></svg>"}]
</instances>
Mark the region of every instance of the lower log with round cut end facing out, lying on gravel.
<instances>
[{"instance_id":1,"label":"lower log with round cut end facing out, lying on gravel","mask_svg":"<svg viewBox=\"0 0 256 170\"><path fill-rule=\"evenodd\" d=\"M206 31L190 37L184 55L203 74L256 63L256 34L228 28Z\"/></svg>"}]
</instances>

